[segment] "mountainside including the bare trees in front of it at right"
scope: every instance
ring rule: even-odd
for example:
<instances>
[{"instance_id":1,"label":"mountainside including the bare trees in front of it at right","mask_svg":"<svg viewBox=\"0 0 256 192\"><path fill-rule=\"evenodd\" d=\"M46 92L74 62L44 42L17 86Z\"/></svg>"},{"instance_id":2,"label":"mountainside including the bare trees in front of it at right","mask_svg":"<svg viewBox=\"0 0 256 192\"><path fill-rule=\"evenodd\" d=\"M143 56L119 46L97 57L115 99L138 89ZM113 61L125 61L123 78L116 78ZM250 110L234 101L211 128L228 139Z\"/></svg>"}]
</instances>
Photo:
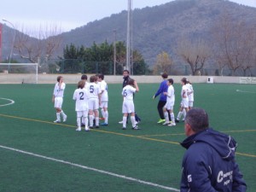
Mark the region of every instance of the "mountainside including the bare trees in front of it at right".
<instances>
[{"instance_id":1,"label":"mountainside including the bare trees in front of it at right","mask_svg":"<svg viewBox=\"0 0 256 192\"><path fill-rule=\"evenodd\" d=\"M61 43L52 58L62 57L64 48L70 44L89 48L103 42L113 44L114 39L125 42L126 20L124 10L57 35ZM176 0L134 9L132 24L133 49L152 68L161 54L169 55L173 71L190 70L191 74L208 68L217 69L215 74L220 75L224 68L229 68L235 75L237 68L246 73L255 68L256 48L249 42L256 43L256 8L226 0ZM246 61L240 55L252 57Z\"/></svg>"}]
</instances>

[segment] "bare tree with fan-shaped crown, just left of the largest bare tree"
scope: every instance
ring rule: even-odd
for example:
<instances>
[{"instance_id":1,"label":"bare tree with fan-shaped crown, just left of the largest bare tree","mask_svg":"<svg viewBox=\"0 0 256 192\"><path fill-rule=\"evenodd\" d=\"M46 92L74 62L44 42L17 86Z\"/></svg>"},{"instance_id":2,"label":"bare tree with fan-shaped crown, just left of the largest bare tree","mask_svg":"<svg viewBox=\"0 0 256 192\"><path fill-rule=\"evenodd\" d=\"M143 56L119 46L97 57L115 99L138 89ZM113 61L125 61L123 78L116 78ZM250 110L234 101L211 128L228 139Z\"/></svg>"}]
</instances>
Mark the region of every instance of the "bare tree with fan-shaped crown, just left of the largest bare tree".
<instances>
[{"instance_id":1,"label":"bare tree with fan-shaped crown, just left of the largest bare tree","mask_svg":"<svg viewBox=\"0 0 256 192\"><path fill-rule=\"evenodd\" d=\"M177 44L177 55L180 55L183 61L189 64L192 75L201 71L209 59L210 53L211 50L203 39L192 41L188 38L183 38Z\"/></svg>"}]
</instances>

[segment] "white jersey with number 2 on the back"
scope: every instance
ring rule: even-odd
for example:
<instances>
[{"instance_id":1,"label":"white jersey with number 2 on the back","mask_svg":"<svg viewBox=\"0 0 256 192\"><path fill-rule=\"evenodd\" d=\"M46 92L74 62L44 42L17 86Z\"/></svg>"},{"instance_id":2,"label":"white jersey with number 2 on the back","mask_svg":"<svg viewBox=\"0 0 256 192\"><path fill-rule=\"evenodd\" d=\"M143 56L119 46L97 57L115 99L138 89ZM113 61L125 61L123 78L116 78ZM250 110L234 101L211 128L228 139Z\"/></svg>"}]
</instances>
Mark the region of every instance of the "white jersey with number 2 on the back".
<instances>
[{"instance_id":1,"label":"white jersey with number 2 on the back","mask_svg":"<svg viewBox=\"0 0 256 192\"><path fill-rule=\"evenodd\" d=\"M88 110L88 90L77 89L73 93L73 100L76 101L76 111L87 111Z\"/></svg>"}]
</instances>

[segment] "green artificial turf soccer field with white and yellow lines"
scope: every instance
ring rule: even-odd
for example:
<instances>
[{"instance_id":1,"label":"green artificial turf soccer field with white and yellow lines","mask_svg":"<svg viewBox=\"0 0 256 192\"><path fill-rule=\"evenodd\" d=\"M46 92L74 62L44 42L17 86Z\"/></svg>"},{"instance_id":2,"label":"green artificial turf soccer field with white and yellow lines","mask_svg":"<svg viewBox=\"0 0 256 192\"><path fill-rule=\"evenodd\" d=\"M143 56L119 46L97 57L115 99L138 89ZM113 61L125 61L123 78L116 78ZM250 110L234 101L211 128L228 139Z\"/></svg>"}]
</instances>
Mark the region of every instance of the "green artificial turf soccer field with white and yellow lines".
<instances>
[{"instance_id":1,"label":"green artificial turf soccer field with white and yellow lines","mask_svg":"<svg viewBox=\"0 0 256 192\"><path fill-rule=\"evenodd\" d=\"M108 79L107 83L108 83ZM185 151L183 123L158 125L159 84L139 84L135 107L141 130L122 130L121 84L108 84L108 126L75 131L72 100L76 84L67 84L63 110L67 122L53 123L54 84L0 84L0 191L179 191ZM236 160L256 191L256 86L193 84L195 107L206 109L210 125L236 139ZM174 84L177 115L180 84Z\"/></svg>"}]
</instances>

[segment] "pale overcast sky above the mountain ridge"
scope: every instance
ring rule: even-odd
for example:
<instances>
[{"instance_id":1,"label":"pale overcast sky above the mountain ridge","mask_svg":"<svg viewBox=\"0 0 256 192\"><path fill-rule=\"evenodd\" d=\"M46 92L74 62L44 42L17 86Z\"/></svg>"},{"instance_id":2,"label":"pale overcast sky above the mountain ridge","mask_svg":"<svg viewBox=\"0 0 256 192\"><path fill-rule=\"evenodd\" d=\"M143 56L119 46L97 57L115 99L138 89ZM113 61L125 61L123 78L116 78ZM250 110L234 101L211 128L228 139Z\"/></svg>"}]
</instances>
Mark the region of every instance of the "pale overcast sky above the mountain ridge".
<instances>
[{"instance_id":1,"label":"pale overcast sky above the mountain ridge","mask_svg":"<svg viewBox=\"0 0 256 192\"><path fill-rule=\"evenodd\" d=\"M173 0L132 0L132 9L153 7ZM256 8L256 0L230 0ZM68 32L90 21L118 14L128 7L128 0L4 0L0 4L0 22L22 32L58 26ZM3 21L8 20L9 22Z\"/></svg>"}]
</instances>

